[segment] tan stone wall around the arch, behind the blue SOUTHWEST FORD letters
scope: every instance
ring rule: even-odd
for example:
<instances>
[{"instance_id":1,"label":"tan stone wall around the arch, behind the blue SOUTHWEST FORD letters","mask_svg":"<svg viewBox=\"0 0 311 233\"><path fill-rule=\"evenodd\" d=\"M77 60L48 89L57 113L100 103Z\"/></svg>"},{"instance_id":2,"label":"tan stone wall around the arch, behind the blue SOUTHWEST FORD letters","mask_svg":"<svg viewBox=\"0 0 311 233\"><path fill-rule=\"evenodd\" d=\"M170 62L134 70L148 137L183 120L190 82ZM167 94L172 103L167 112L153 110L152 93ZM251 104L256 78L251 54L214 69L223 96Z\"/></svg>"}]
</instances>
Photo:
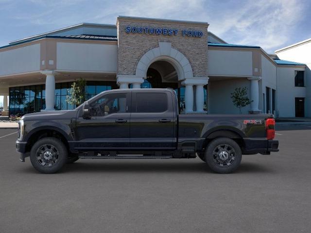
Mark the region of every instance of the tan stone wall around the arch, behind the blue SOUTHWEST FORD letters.
<instances>
[{"instance_id":1,"label":"tan stone wall around the arch, behind the blue SOUTHWEST FORD letters","mask_svg":"<svg viewBox=\"0 0 311 233\"><path fill-rule=\"evenodd\" d=\"M126 33L127 26L173 28L177 35ZM118 75L135 75L140 58L159 42L170 42L189 60L194 77L207 77L207 23L118 17ZM182 30L202 31L201 37L183 36Z\"/></svg>"}]
</instances>

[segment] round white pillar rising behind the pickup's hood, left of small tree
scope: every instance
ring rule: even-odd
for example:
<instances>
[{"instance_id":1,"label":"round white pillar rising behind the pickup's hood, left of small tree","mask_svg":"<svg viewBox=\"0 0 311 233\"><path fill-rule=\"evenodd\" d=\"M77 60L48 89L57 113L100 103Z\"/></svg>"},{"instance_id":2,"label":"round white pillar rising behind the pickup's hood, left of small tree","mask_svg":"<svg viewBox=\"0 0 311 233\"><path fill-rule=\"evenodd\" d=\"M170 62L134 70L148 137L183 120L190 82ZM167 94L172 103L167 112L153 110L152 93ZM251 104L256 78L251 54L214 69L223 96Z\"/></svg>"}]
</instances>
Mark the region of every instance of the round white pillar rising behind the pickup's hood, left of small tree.
<instances>
[{"instance_id":1,"label":"round white pillar rising behind the pickup's hood, left of small tree","mask_svg":"<svg viewBox=\"0 0 311 233\"><path fill-rule=\"evenodd\" d=\"M55 75L54 70L43 70L42 74L46 75L45 80L45 110L41 111L55 111Z\"/></svg>"}]
</instances>

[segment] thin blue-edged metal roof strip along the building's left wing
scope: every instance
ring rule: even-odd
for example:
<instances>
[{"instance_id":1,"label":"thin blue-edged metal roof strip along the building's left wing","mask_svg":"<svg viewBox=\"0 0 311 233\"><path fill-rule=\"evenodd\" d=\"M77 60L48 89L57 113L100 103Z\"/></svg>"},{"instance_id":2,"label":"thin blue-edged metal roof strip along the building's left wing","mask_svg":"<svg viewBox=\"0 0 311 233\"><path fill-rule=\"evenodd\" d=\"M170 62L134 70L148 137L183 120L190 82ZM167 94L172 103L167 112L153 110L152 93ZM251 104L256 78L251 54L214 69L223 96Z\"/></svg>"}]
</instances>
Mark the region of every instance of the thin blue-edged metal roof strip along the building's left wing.
<instances>
[{"instance_id":1,"label":"thin blue-edged metal roof strip along the building's left wing","mask_svg":"<svg viewBox=\"0 0 311 233\"><path fill-rule=\"evenodd\" d=\"M0 49L24 44L24 43L35 41L35 40L40 40L43 38L118 41L117 36L112 36L112 35L86 35L86 34L83 34L83 35L44 35L44 36L36 37L34 39L24 40L24 41L17 42L14 44L5 45L5 46L0 47Z\"/></svg>"}]
</instances>

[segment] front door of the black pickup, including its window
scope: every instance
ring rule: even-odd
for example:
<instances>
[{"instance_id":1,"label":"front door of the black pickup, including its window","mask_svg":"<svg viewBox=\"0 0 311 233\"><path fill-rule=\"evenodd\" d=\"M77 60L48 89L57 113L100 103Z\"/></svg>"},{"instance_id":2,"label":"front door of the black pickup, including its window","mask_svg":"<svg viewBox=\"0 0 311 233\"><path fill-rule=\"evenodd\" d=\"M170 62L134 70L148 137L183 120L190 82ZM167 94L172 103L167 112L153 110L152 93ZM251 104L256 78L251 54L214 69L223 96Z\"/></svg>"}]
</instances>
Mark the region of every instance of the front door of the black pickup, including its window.
<instances>
[{"instance_id":1,"label":"front door of the black pickup, including its window","mask_svg":"<svg viewBox=\"0 0 311 233\"><path fill-rule=\"evenodd\" d=\"M130 147L131 92L107 93L89 102L91 116L76 122L79 150L128 149Z\"/></svg>"}]
</instances>

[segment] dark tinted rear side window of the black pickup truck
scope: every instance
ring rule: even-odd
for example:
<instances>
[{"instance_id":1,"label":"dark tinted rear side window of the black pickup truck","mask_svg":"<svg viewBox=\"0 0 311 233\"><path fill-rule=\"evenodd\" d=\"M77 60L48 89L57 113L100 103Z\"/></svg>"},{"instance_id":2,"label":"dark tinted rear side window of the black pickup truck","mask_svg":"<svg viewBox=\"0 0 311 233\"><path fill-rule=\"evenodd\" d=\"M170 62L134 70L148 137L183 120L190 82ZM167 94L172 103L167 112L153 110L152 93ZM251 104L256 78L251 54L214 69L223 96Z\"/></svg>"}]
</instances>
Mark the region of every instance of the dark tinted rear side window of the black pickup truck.
<instances>
[{"instance_id":1,"label":"dark tinted rear side window of the black pickup truck","mask_svg":"<svg viewBox=\"0 0 311 233\"><path fill-rule=\"evenodd\" d=\"M136 93L137 113L162 113L167 110L165 93Z\"/></svg>"}]
</instances>

